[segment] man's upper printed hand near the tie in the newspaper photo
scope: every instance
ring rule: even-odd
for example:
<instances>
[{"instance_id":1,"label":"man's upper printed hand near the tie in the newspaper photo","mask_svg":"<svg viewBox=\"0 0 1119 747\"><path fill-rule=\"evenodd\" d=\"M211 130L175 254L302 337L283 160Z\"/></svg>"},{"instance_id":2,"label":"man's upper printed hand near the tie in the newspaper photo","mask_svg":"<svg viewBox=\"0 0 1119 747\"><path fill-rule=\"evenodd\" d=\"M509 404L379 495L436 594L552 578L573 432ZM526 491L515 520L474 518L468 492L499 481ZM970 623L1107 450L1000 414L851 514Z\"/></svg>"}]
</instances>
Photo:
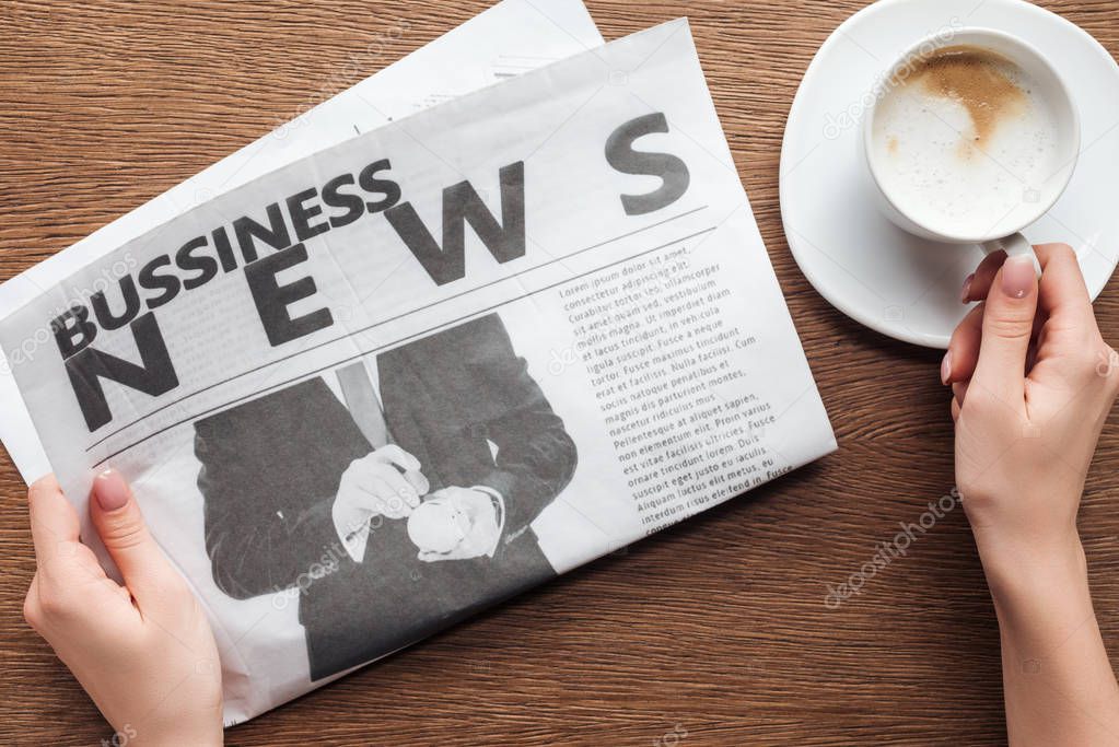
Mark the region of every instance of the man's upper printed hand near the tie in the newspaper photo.
<instances>
[{"instance_id":1,"label":"man's upper printed hand near the tie in the newspaper photo","mask_svg":"<svg viewBox=\"0 0 1119 747\"><path fill-rule=\"evenodd\" d=\"M382 446L342 473L332 509L335 526L349 542L378 516L406 518L429 489L416 457L393 444Z\"/></svg>"}]
</instances>

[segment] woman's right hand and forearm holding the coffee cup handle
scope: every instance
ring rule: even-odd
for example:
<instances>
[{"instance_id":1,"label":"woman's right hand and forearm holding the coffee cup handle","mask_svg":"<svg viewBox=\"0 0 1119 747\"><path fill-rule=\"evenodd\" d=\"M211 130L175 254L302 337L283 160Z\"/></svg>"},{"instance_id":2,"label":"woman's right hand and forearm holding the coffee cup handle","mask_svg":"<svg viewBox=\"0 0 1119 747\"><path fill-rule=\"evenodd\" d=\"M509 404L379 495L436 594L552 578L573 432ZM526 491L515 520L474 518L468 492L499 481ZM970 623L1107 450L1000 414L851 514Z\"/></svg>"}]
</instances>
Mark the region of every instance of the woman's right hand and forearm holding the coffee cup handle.
<instances>
[{"instance_id":1,"label":"woman's right hand and forearm holding the coffee cup handle","mask_svg":"<svg viewBox=\"0 0 1119 747\"><path fill-rule=\"evenodd\" d=\"M1119 361L1072 249L988 257L952 337L956 477L990 585L1009 743L1119 744L1119 687L1092 609L1076 511Z\"/></svg>"}]
</instances>

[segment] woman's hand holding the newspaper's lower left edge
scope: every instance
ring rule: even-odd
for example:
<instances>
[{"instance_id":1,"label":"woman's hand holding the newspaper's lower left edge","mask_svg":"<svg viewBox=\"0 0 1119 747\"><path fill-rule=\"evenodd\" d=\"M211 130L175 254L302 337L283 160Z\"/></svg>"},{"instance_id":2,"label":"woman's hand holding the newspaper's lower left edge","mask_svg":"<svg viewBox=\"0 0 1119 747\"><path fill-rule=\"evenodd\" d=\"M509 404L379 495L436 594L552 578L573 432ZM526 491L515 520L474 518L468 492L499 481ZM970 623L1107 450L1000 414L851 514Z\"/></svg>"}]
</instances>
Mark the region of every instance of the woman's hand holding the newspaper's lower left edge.
<instances>
[{"instance_id":1,"label":"woman's hand holding the newspaper's lower left edge","mask_svg":"<svg viewBox=\"0 0 1119 747\"><path fill-rule=\"evenodd\" d=\"M28 494L38 569L23 615L117 734L135 745L220 745L222 669L206 615L148 533L120 474L94 481L90 513L124 578L78 539L54 477Z\"/></svg>"}]
</instances>

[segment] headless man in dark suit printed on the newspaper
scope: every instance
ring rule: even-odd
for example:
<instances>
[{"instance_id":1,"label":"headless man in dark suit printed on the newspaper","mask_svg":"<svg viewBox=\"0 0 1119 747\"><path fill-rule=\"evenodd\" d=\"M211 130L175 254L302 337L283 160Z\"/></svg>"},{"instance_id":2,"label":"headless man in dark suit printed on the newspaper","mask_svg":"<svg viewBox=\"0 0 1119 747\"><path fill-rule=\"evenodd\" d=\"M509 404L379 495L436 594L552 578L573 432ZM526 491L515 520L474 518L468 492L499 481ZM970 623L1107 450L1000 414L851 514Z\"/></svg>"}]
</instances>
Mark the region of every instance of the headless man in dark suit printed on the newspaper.
<instances>
[{"instance_id":1,"label":"headless man in dark suit printed on the newspaper","mask_svg":"<svg viewBox=\"0 0 1119 747\"><path fill-rule=\"evenodd\" d=\"M312 680L555 575L529 524L575 445L496 314L195 429L214 579L238 599L299 586ZM408 538L425 495L480 518L448 552Z\"/></svg>"}]
</instances>

